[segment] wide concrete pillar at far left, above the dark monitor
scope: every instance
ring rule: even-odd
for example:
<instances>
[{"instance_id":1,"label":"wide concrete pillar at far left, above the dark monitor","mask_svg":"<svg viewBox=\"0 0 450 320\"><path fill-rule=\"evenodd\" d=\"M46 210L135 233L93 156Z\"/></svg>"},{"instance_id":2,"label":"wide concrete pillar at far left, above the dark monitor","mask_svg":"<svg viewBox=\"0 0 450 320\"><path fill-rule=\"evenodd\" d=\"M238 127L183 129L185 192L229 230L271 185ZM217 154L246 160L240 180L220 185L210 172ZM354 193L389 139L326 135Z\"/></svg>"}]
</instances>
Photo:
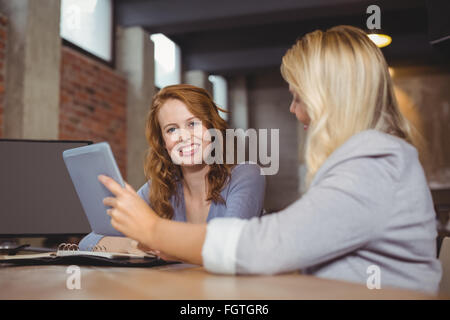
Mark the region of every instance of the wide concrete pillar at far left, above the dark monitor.
<instances>
[{"instance_id":1,"label":"wide concrete pillar at far left, above the dark monitor","mask_svg":"<svg viewBox=\"0 0 450 320\"><path fill-rule=\"evenodd\" d=\"M58 139L59 0L0 0L9 20L4 137Z\"/></svg>"}]
</instances>

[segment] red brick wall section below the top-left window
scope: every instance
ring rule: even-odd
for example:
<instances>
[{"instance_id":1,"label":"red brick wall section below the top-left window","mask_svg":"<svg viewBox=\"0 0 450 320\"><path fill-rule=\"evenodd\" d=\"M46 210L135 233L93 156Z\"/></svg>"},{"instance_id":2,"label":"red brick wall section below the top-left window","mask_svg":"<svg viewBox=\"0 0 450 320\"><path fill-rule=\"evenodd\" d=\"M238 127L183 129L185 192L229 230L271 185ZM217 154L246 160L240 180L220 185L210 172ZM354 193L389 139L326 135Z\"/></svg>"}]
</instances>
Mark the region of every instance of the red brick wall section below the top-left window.
<instances>
[{"instance_id":1,"label":"red brick wall section below the top-left window","mask_svg":"<svg viewBox=\"0 0 450 320\"><path fill-rule=\"evenodd\" d=\"M59 139L107 141L126 177L125 77L63 46Z\"/></svg>"}]
</instances>

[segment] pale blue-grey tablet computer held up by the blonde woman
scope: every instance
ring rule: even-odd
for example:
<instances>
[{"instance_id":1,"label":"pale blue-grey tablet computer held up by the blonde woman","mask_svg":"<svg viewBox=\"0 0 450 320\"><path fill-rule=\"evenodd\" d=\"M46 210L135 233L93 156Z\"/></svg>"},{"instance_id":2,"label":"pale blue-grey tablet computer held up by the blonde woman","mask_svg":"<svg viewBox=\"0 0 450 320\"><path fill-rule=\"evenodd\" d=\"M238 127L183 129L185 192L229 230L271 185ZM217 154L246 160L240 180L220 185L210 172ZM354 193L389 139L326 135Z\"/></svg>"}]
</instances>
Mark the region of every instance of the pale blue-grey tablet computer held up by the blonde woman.
<instances>
[{"instance_id":1,"label":"pale blue-grey tablet computer held up by the blonde woman","mask_svg":"<svg viewBox=\"0 0 450 320\"><path fill-rule=\"evenodd\" d=\"M103 198L114 195L97 178L103 174L125 187L109 144L100 142L68 149L63 152L63 159L92 231L123 236L111 225L111 217L106 213L109 207L103 204Z\"/></svg>"}]
</instances>

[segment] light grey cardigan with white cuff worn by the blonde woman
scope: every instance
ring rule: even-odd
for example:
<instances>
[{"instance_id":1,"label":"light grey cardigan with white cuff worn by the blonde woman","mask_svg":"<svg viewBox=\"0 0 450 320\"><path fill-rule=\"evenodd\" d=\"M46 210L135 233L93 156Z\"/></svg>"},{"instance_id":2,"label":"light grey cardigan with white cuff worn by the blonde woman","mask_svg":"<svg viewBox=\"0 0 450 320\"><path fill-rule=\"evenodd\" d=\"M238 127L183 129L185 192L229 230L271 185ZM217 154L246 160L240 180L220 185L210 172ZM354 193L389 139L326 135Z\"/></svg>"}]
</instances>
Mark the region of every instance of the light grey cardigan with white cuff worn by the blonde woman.
<instances>
[{"instance_id":1,"label":"light grey cardigan with white cuff worn by the blonde woman","mask_svg":"<svg viewBox=\"0 0 450 320\"><path fill-rule=\"evenodd\" d=\"M214 219L203 263L211 272L304 274L436 293L435 211L416 149L376 130L335 150L299 200L248 221Z\"/></svg>"}]
</instances>

